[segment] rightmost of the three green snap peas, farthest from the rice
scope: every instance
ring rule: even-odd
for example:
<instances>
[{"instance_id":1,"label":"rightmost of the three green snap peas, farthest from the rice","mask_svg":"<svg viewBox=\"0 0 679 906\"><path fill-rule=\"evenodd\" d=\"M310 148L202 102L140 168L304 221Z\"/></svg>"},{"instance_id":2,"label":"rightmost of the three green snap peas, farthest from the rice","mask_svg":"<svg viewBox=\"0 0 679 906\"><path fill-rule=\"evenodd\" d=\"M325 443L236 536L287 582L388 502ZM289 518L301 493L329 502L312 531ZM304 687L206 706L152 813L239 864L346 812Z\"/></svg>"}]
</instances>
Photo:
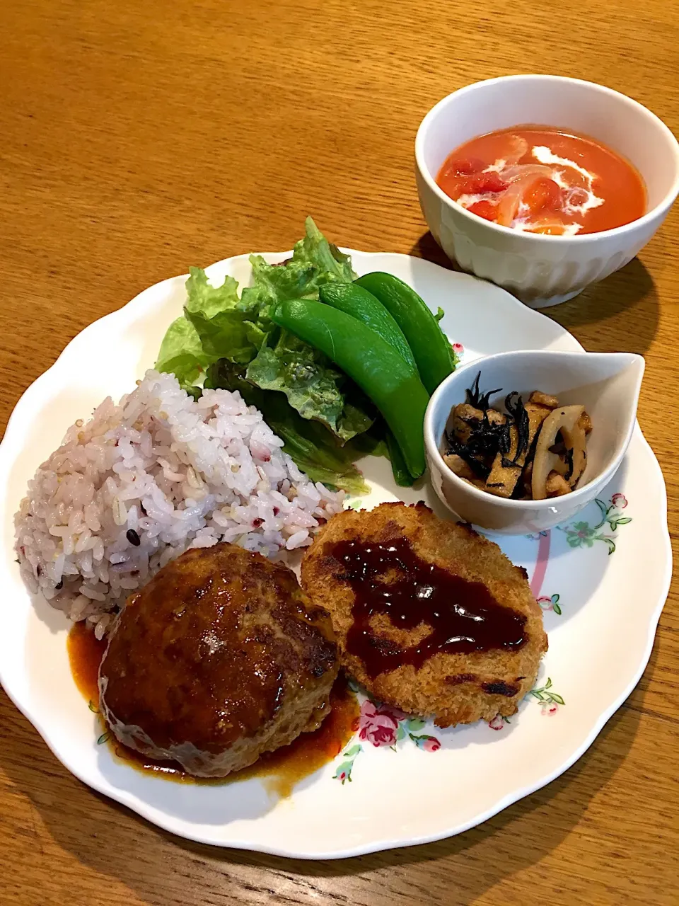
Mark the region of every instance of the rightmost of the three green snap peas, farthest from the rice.
<instances>
[{"instance_id":1,"label":"rightmost of the three green snap peas, farthest from the rice","mask_svg":"<svg viewBox=\"0 0 679 906\"><path fill-rule=\"evenodd\" d=\"M434 315L415 290L391 274L375 271L355 282L392 315L413 351L422 383L433 393L454 371L453 351Z\"/></svg>"}]
</instances>

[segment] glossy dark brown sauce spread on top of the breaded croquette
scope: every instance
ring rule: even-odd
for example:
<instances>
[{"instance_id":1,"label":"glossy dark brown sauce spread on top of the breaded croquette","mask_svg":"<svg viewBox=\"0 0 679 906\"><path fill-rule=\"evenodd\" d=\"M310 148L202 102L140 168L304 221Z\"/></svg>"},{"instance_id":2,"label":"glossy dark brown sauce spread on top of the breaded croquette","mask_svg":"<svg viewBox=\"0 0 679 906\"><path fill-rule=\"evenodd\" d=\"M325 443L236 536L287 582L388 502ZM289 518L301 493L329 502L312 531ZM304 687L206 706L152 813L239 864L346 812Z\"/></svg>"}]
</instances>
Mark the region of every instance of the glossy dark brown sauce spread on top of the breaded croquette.
<instances>
[{"instance_id":1,"label":"glossy dark brown sauce spread on top of the breaded croquette","mask_svg":"<svg viewBox=\"0 0 679 906\"><path fill-rule=\"evenodd\" d=\"M340 541L329 553L342 564L337 578L355 595L347 650L363 661L371 678L403 664L418 670L439 653L516 651L527 641L521 613L502 607L483 583L427 563L406 538L381 544ZM424 623L431 631L417 644L400 648L373 631L371 621L378 614L400 630Z\"/></svg>"}]
</instances>

